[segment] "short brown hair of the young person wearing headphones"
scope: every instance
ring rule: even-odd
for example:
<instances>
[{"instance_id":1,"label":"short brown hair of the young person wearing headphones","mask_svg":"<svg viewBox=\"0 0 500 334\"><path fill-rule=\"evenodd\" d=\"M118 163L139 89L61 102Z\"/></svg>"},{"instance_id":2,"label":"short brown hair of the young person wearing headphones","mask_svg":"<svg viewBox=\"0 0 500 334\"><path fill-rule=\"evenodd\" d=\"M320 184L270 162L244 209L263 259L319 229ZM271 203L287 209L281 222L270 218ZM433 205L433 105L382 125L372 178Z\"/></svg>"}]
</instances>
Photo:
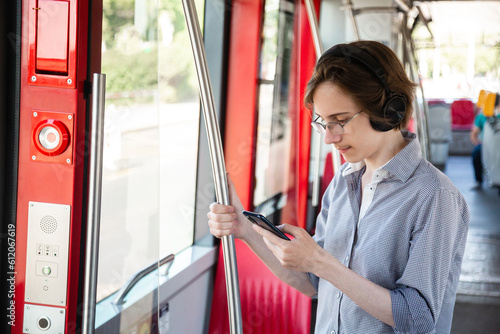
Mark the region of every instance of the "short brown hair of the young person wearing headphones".
<instances>
[{"instance_id":1,"label":"short brown hair of the young person wearing headphones","mask_svg":"<svg viewBox=\"0 0 500 334\"><path fill-rule=\"evenodd\" d=\"M375 41L357 41L349 43L372 56L385 72L385 79L393 94L406 99L406 114L397 129L405 128L413 111L413 99L416 84L413 83L403 68L396 54L387 46ZM350 95L369 115L370 120L387 123L382 108L389 98L384 85L377 76L359 62L344 57L329 55L321 57L314 68L313 75L306 87L304 104L313 109L313 95L316 88L330 82Z\"/></svg>"}]
</instances>

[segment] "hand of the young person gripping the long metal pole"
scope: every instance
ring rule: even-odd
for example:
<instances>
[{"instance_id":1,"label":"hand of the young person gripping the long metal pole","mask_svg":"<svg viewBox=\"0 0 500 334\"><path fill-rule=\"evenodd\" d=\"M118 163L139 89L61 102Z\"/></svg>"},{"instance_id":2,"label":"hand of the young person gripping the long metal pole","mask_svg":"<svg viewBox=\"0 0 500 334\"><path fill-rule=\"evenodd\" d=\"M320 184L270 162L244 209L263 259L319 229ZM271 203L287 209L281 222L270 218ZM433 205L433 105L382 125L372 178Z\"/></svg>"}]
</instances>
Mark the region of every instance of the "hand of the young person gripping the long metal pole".
<instances>
[{"instance_id":1,"label":"hand of the young person gripping the long metal pole","mask_svg":"<svg viewBox=\"0 0 500 334\"><path fill-rule=\"evenodd\" d=\"M231 205L210 204L210 211L207 213L210 233L217 238L234 234L236 238L244 239L249 231L251 232L251 223L242 214L243 205L229 174L227 181Z\"/></svg>"}]
</instances>

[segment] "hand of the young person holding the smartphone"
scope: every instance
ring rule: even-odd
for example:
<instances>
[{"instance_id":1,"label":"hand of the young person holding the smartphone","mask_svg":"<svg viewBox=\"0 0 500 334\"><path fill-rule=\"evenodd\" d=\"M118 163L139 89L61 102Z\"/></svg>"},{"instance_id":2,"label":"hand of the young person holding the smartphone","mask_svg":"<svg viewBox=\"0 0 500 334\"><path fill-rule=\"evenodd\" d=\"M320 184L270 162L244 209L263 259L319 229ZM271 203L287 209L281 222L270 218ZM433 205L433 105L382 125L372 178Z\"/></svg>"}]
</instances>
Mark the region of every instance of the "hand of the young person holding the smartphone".
<instances>
[{"instance_id":1,"label":"hand of the young person holding the smartphone","mask_svg":"<svg viewBox=\"0 0 500 334\"><path fill-rule=\"evenodd\" d=\"M294 238L291 241L284 240L256 224L253 225L253 229L264 238L267 248L273 252L284 268L314 273L322 261L330 255L306 230L288 224L280 225L278 228Z\"/></svg>"}]
</instances>

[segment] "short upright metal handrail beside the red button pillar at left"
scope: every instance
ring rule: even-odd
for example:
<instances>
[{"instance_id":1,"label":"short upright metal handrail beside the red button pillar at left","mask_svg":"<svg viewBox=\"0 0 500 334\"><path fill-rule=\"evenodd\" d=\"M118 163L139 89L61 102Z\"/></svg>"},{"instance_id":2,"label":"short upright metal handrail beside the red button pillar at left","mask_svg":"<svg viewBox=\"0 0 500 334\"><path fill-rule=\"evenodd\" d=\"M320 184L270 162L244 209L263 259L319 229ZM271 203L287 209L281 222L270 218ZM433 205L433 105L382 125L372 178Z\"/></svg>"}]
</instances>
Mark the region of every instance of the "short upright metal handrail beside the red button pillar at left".
<instances>
[{"instance_id":1,"label":"short upright metal handrail beside the red button pillar at left","mask_svg":"<svg viewBox=\"0 0 500 334\"><path fill-rule=\"evenodd\" d=\"M104 138L104 98L106 75L92 78L92 130L90 139L89 200L87 209L87 244L85 286L83 292L82 333L93 334L97 291L97 260L101 224L102 149Z\"/></svg>"}]
</instances>

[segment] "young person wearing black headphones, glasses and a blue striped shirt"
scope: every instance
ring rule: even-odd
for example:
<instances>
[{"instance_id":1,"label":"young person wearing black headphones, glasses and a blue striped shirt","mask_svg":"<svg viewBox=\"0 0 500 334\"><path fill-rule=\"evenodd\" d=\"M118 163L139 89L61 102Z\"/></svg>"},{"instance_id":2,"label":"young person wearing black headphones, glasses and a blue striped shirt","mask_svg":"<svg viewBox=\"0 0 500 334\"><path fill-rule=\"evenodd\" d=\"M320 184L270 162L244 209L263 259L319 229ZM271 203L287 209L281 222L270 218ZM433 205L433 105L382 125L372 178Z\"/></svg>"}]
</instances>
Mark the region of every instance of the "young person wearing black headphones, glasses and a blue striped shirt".
<instances>
[{"instance_id":1,"label":"young person wearing black headphones, glasses and a blue striped shirt","mask_svg":"<svg viewBox=\"0 0 500 334\"><path fill-rule=\"evenodd\" d=\"M318 294L316 333L449 333L469 212L422 158L411 117L414 84L378 42L322 55L305 94L347 163L330 183L316 234L284 224L286 241L231 206L210 206L211 233L243 240L281 280Z\"/></svg>"}]
</instances>

